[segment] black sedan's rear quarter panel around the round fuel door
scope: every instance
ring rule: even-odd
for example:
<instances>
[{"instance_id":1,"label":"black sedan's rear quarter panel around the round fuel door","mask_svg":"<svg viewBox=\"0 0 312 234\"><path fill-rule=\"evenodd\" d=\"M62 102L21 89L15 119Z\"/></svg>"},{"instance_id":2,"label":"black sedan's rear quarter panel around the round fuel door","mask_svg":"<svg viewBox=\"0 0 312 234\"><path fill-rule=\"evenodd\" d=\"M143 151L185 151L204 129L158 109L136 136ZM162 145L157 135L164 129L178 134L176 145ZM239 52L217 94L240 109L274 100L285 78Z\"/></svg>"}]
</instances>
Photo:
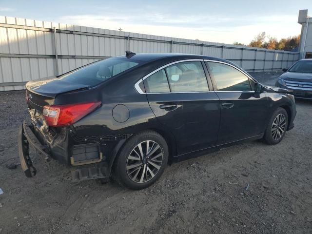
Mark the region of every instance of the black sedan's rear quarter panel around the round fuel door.
<instances>
[{"instance_id":1,"label":"black sedan's rear quarter panel around the round fuel door","mask_svg":"<svg viewBox=\"0 0 312 234\"><path fill-rule=\"evenodd\" d=\"M175 138L157 121L146 95L139 94L134 87L135 82L142 76L140 73L129 73L118 80L105 82L92 89L62 94L56 98L56 104L101 101L98 109L73 124L72 131L82 139L108 135L131 137L151 129L166 139L171 155L175 155ZM121 111L114 112L113 117L113 110L117 105L122 105L122 108ZM101 142L105 160L111 165L126 140L127 138Z\"/></svg>"}]
</instances>

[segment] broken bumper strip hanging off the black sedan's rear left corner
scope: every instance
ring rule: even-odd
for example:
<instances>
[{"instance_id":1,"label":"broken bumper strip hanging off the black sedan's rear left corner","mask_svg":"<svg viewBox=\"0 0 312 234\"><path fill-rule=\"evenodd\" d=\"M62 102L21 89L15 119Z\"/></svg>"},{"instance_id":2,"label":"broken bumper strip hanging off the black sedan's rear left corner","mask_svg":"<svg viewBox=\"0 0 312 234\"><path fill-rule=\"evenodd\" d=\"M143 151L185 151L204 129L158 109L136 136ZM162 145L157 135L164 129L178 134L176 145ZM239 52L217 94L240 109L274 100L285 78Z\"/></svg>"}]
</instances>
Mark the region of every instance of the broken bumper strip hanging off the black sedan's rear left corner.
<instances>
[{"instance_id":1,"label":"broken bumper strip hanging off the black sedan's rear left corner","mask_svg":"<svg viewBox=\"0 0 312 234\"><path fill-rule=\"evenodd\" d=\"M42 145L33 131L27 126L26 122L24 121L19 128L19 156L20 156L20 165L27 177L36 176L37 170L33 166L33 163L29 156L29 144L33 146L36 150L38 150L45 159L50 158L50 155L47 154L44 149L47 149L47 146Z\"/></svg>"}]
</instances>

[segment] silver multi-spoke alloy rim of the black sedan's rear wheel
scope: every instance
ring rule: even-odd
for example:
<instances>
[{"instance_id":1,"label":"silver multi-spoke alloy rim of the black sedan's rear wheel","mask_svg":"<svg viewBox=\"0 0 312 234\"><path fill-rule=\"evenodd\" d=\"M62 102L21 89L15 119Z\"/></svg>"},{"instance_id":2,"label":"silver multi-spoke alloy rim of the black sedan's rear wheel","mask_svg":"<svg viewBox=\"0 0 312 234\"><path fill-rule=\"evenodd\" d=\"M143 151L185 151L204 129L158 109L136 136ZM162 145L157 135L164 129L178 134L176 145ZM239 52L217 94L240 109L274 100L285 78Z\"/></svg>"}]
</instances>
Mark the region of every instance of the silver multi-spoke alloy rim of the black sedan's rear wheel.
<instances>
[{"instance_id":1,"label":"silver multi-spoke alloy rim of the black sedan's rear wheel","mask_svg":"<svg viewBox=\"0 0 312 234\"><path fill-rule=\"evenodd\" d=\"M156 176L162 161L164 152L153 140L146 140L131 151L127 158L127 174L136 183L144 183Z\"/></svg>"}]
</instances>

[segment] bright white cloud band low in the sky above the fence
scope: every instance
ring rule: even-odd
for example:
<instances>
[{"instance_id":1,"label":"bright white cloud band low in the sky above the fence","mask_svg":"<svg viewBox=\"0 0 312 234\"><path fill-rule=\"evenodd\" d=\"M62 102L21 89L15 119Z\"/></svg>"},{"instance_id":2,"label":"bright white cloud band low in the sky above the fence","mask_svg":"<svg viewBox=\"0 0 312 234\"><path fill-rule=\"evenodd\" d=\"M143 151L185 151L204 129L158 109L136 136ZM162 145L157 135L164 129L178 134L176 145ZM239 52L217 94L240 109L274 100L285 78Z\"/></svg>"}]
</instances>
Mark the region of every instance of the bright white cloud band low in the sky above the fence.
<instances>
[{"instance_id":1,"label":"bright white cloud band low in the sky above the fence","mask_svg":"<svg viewBox=\"0 0 312 234\"><path fill-rule=\"evenodd\" d=\"M300 34L297 16L174 15L159 13L123 14L110 12L101 15L62 16L62 23L150 34L165 37L199 39L220 43L235 41L248 44L260 32L277 39Z\"/></svg>"}]
</instances>

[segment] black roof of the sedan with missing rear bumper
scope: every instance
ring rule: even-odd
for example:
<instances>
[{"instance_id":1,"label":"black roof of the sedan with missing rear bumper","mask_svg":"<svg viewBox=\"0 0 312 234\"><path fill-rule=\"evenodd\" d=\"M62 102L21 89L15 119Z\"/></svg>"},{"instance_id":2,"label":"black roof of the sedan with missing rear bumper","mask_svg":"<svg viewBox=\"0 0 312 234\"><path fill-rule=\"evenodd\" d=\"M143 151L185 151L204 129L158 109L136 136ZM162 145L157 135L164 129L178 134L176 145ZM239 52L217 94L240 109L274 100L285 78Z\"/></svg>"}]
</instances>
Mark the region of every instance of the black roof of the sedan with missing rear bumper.
<instances>
[{"instance_id":1,"label":"black roof of the sedan with missing rear bumper","mask_svg":"<svg viewBox=\"0 0 312 234\"><path fill-rule=\"evenodd\" d=\"M177 53L139 53L134 54L130 56L121 55L117 56L116 58L123 58L123 59L136 59L144 62L150 62L155 60L160 60L164 58L172 58L176 60L182 60L182 59L211 59L211 60L218 60L218 61L224 61L233 64L232 62L225 60L225 59L219 59L215 57L209 57L204 55L192 55L192 54L177 54Z\"/></svg>"}]
</instances>

